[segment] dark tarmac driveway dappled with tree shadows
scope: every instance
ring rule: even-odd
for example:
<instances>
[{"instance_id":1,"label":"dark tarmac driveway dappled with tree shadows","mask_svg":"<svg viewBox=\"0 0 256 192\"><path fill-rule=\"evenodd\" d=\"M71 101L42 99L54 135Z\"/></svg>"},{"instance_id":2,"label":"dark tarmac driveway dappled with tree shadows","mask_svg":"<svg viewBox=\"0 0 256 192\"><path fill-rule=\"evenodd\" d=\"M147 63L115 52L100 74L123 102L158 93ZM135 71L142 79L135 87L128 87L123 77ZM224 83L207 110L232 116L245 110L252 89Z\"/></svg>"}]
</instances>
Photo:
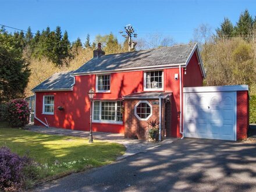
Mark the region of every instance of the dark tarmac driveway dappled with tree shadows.
<instances>
[{"instance_id":1,"label":"dark tarmac driveway dappled with tree shadows","mask_svg":"<svg viewBox=\"0 0 256 192\"><path fill-rule=\"evenodd\" d=\"M41 191L256 191L256 144L185 138Z\"/></svg>"}]
</instances>

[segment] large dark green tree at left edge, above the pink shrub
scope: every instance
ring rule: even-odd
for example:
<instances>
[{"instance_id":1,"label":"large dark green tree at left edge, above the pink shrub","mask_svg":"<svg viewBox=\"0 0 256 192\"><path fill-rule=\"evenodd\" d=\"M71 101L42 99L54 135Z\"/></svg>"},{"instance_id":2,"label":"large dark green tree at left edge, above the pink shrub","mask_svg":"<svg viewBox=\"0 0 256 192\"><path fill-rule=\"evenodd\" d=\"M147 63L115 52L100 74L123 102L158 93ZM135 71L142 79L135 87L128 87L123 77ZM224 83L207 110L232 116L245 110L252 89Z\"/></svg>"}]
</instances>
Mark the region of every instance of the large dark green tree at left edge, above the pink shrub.
<instances>
[{"instance_id":1,"label":"large dark green tree at left edge, above the pink shrub","mask_svg":"<svg viewBox=\"0 0 256 192\"><path fill-rule=\"evenodd\" d=\"M24 97L29 76L29 63L23 59L20 42L0 30L0 102Z\"/></svg>"}]
</instances>

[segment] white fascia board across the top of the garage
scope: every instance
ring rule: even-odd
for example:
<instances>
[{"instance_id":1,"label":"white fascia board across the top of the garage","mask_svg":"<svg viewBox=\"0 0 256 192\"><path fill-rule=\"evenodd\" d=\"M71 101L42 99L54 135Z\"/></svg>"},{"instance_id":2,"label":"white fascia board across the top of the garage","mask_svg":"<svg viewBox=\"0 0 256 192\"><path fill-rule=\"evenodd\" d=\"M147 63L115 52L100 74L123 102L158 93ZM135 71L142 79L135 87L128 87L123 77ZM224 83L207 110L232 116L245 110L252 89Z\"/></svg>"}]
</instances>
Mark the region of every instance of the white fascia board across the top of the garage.
<instances>
[{"instance_id":1,"label":"white fascia board across the top of the garage","mask_svg":"<svg viewBox=\"0 0 256 192\"><path fill-rule=\"evenodd\" d=\"M209 87L184 87L183 93L200 93L200 92L223 92L223 91L248 91L247 85L235 86L209 86Z\"/></svg>"}]
</instances>

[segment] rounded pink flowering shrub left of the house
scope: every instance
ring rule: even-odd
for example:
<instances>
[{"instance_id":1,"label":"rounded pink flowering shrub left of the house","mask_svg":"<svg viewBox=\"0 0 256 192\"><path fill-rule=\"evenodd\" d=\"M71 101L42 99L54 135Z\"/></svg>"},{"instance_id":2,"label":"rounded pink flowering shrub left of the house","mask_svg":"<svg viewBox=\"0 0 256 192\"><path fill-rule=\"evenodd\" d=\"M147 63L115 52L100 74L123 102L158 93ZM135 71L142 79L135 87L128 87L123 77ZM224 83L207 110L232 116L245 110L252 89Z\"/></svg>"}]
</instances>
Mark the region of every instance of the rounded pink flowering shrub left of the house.
<instances>
[{"instance_id":1,"label":"rounded pink flowering shrub left of the house","mask_svg":"<svg viewBox=\"0 0 256 192\"><path fill-rule=\"evenodd\" d=\"M7 104L6 119L12 127L24 127L29 120L30 109L24 99L13 99Z\"/></svg>"}]
</instances>

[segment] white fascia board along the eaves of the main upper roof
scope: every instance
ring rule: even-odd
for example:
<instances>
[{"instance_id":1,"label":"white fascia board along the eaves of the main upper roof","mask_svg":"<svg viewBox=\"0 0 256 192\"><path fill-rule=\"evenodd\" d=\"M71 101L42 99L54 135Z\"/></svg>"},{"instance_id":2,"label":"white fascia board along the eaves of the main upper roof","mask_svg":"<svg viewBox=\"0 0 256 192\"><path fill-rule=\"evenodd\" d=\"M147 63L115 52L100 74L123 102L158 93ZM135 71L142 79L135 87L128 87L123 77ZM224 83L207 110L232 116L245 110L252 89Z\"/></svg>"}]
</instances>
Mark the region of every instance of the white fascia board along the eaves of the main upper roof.
<instances>
[{"instance_id":1,"label":"white fascia board along the eaves of the main upper roof","mask_svg":"<svg viewBox=\"0 0 256 192\"><path fill-rule=\"evenodd\" d=\"M99 70L95 72L73 73L72 75L82 76L82 75L88 75L88 74L109 74L109 73L115 73L115 72L133 72L133 71L150 70L150 69L161 70L161 69L177 68L179 66L186 66L186 63L172 64L172 65L155 65L155 66L147 66L147 67L133 67L133 68L127 68L127 69Z\"/></svg>"}]
</instances>

